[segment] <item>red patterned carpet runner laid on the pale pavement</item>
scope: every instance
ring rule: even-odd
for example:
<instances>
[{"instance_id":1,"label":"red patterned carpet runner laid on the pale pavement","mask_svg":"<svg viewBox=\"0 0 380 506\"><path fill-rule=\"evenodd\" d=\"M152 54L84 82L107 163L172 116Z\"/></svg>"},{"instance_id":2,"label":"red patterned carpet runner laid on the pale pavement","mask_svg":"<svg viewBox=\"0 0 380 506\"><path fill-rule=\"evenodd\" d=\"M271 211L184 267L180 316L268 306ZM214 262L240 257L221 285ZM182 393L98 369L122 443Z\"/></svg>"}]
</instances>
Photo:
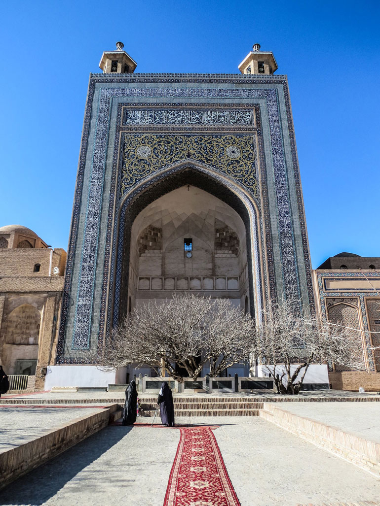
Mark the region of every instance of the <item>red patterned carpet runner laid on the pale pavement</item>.
<instances>
[{"instance_id":1,"label":"red patterned carpet runner laid on the pale pavement","mask_svg":"<svg viewBox=\"0 0 380 506\"><path fill-rule=\"evenodd\" d=\"M180 429L164 506L240 506L213 429Z\"/></svg>"}]
</instances>

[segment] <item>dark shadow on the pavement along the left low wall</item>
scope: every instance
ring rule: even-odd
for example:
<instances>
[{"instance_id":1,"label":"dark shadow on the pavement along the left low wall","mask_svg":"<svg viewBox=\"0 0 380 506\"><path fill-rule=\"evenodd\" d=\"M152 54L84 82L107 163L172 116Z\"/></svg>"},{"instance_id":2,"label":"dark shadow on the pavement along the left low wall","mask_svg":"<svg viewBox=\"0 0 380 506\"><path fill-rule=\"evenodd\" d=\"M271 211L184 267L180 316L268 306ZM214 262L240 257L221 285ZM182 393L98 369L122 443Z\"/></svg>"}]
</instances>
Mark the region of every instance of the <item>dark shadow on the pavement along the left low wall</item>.
<instances>
[{"instance_id":1,"label":"dark shadow on the pavement along the left low wall","mask_svg":"<svg viewBox=\"0 0 380 506\"><path fill-rule=\"evenodd\" d=\"M0 491L0 504L42 506L75 475L123 439L132 427L106 427Z\"/></svg>"}]
</instances>

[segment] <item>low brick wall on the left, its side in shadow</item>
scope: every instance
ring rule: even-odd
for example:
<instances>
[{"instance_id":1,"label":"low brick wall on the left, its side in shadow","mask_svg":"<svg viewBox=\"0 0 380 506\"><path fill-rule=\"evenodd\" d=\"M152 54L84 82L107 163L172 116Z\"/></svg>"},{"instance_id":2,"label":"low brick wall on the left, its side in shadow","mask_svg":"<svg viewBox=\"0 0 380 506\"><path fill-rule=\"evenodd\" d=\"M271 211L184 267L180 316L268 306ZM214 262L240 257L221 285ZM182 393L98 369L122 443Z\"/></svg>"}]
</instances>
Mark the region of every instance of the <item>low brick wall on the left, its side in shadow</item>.
<instances>
[{"instance_id":1,"label":"low brick wall on the left, its side in shadow","mask_svg":"<svg viewBox=\"0 0 380 506\"><path fill-rule=\"evenodd\" d=\"M0 489L108 425L118 406L97 409L33 441L0 453Z\"/></svg>"}]
</instances>

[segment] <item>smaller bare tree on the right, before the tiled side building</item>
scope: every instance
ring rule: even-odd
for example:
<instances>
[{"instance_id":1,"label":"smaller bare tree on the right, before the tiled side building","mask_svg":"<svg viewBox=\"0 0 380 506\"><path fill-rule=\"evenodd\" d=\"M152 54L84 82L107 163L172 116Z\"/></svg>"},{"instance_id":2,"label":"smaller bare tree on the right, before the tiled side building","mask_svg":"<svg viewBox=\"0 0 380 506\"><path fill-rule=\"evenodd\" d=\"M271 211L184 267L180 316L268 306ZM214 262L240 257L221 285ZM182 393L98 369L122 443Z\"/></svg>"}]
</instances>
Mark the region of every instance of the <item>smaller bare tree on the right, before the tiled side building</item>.
<instances>
[{"instance_id":1,"label":"smaller bare tree on the right, before the tiled side building","mask_svg":"<svg viewBox=\"0 0 380 506\"><path fill-rule=\"evenodd\" d=\"M273 304L257 328L253 353L273 375L278 393L298 394L312 363L365 370L360 331L294 313L299 304ZM284 381L285 377L285 381Z\"/></svg>"}]
</instances>

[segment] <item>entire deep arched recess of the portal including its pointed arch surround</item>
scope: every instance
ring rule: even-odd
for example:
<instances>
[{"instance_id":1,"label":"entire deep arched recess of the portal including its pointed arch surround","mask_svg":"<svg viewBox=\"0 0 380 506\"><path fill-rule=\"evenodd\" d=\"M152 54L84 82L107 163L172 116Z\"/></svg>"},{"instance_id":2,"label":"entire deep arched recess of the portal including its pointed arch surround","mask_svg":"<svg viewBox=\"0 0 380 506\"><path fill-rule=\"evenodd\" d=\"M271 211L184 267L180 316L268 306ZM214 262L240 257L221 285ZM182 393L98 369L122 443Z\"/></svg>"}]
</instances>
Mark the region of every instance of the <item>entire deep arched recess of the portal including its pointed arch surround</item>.
<instances>
[{"instance_id":1,"label":"entire deep arched recess of the portal including its pointed arch surround","mask_svg":"<svg viewBox=\"0 0 380 506\"><path fill-rule=\"evenodd\" d=\"M162 292L163 298L174 289L235 290L238 296L236 301L239 299L238 304L243 304L243 309L246 294L249 294L252 315L255 314L254 305L261 308L257 210L253 199L244 195L240 188L234 189L234 186L198 170L196 166L186 164L178 166L170 174L157 175L149 184L142 185L125 197L120 207L114 325L127 313L127 301L131 293L133 296L134 290L143 292L153 289ZM178 191L174 193L174 190ZM192 198L184 198L186 192ZM204 195L201 198L202 193ZM163 205L160 199L166 199L170 205ZM212 275L208 277L212 280L203 279L206 276L194 268L191 272L179 270L177 276L172 272L171 277L176 279L165 279L170 277L163 270L170 234L168 231L164 233L163 227L172 228L172 241L176 240L177 246L182 243L181 258L178 256L178 260L184 269L194 262L193 258L187 265L185 263L184 238L194 235L199 244L203 241L205 251L205 245L208 244L212 254ZM192 235L189 235L190 230ZM154 232L155 236L152 235ZM162 238L157 240L160 234ZM218 234L223 234L225 240L220 240ZM149 237L155 237L155 240L151 241ZM144 241L147 243L144 244ZM178 247L174 249L179 253ZM145 262L146 259L149 259L148 262ZM232 259L235 267L231 267ZM187 279L180 280L181 284L178 285L178 278L181 277ZM244 289L247 293L243 293Z\"/></svg>"}]
</instances>

